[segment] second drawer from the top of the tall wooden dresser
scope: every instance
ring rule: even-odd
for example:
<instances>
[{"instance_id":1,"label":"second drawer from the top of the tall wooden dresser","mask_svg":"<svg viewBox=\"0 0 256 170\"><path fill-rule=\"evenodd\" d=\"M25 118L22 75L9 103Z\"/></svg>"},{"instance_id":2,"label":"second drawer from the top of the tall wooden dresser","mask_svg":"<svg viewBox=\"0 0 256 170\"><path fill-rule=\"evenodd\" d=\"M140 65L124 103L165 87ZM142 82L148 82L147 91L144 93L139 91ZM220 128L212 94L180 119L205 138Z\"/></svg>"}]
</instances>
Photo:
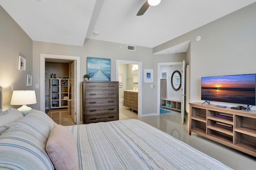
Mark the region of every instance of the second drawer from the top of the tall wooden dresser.
<instances>
[{"instance_id":1,"label":"second drawer from the top of the tall wooden dresser","mask_svg":"<svg viewBox=\"0 0 256 170\"><path fill-rule=\"evenodd\" d=\"M86 91L87 98L116 98L116 90L98 90L98 91Z\"/></svg>"}]
</instances>

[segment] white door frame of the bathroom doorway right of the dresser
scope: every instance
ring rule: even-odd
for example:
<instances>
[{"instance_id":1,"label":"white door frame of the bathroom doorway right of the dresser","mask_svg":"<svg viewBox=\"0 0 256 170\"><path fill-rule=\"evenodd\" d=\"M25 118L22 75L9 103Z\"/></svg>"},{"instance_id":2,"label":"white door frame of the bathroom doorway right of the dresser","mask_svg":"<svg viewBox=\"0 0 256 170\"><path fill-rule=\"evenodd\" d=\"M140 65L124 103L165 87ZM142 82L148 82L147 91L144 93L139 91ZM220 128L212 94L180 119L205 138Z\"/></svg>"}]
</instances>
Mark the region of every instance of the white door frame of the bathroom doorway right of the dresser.
<instances>
[{"instance_id":1,"label":"white door frame of the bathroom doorway right of the dresser","mask_svg":"<svg viewBox=\"0 0 256 170\"><path fill-rule=\"evenodd\" d=\"M142 117L142 62L116 60L116 81L118 81L119 64L137 64L138 65L138 70L139 70L138 71L138 117Z\"/></svg>"}]
</instances>

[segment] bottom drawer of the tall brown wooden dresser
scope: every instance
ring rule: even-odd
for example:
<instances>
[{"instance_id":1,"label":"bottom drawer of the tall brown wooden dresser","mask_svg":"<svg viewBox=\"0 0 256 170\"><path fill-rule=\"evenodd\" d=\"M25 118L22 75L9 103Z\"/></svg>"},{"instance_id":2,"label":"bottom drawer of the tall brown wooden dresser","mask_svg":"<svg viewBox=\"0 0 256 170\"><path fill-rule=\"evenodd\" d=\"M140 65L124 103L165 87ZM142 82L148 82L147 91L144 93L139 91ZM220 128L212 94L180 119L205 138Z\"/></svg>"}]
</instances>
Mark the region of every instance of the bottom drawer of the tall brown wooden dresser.
<instances>
[{"instance_id":1,"label":"bottom drawer of the tall brown wooden dresser","mask_svg":"<svg viewBox=\"0 0 256 170\"><path fill-rule=\"evenodd\" d=\"M104 115L89 115L85 117L85 123L97 123L100 121L114 121L117 120L117 113Z\"/></svg>"}]
</instances>

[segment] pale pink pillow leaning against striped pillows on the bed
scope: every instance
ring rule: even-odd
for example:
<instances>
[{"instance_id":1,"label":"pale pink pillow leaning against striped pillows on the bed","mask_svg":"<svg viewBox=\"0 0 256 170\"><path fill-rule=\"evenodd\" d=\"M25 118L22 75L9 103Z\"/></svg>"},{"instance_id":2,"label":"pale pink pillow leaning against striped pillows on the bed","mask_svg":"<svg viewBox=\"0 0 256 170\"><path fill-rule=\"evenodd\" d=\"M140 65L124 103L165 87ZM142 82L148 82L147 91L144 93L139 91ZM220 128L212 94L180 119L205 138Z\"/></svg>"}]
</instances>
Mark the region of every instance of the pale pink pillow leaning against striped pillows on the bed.
<instances>
[{"instance_id":1,"label":"pale pink pillow leaning against striped pillows on the bed","mask_svg":"<svg viewBox=\"0 0 256 170\"><path fill-rule=\"evenodd\" d=\"M57 170L77 170L78 151L74 135L64 126L54 123L46 152Z\"/></svg>"}]
</instances>

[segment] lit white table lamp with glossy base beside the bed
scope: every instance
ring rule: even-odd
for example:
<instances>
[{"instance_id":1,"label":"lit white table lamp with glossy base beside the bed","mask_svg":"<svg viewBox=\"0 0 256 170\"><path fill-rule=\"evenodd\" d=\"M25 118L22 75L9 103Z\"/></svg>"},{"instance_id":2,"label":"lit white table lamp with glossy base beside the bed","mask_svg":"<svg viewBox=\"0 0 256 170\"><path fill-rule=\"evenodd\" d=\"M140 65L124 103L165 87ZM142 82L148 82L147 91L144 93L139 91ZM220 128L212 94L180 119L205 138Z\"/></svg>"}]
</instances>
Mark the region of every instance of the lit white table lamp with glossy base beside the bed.
<instances>
[{"instance_id":1,"label":"lit white table lamp with glossy base beside the bed","mask_svg":"<svg viewBox=\"0 0 256 170\"><path fill-rule=\"evenodd\" d=\"M32 109L26 106L26 104L36 104L36 93L34 90L14 90L10 104L22 105L22 107L18 108L18 111L25 116Z\"/></svg>"}]
</instances>

